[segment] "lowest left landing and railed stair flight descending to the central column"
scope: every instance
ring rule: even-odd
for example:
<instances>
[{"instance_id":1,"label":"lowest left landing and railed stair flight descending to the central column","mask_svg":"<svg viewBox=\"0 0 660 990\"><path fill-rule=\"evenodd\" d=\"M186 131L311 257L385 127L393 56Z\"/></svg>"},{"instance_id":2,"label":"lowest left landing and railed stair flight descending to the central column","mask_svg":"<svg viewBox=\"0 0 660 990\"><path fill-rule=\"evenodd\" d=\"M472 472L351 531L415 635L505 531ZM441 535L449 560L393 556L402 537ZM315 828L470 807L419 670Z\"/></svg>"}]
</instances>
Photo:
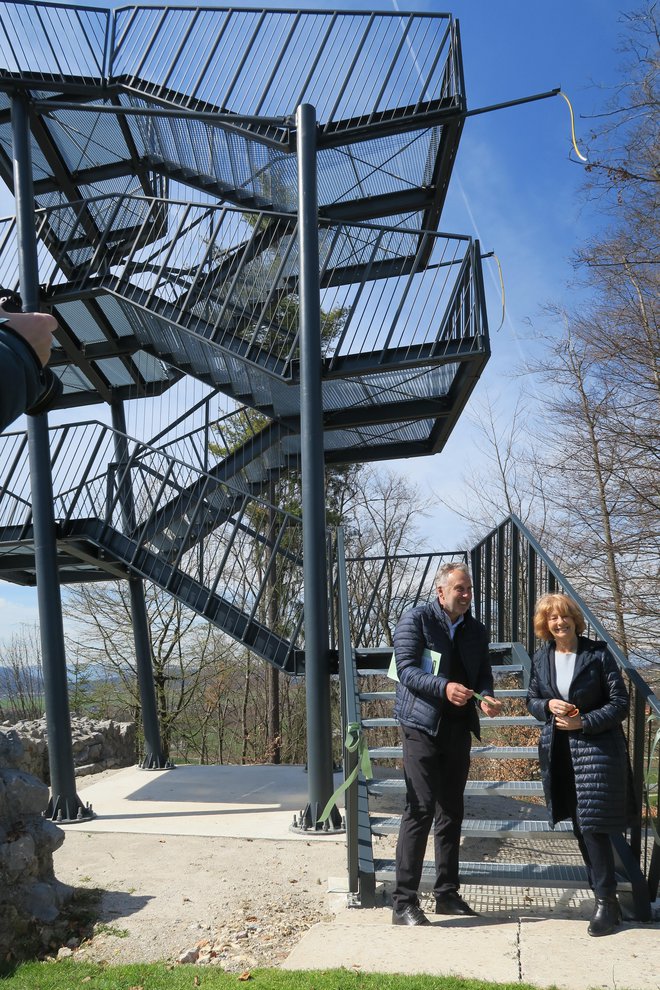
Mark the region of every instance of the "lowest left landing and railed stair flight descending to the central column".
<instances>
[{"instance_id":1,"label":"lowest left landing and railed stair flight descending to the central column","mask_svg":"<svg viewBox=\"0 0 660 990\"><path fill-rule=\"evenodd\" d=\"M300 520L162 449L131 441L118 460L118 439L93 422L51 431L61 583L148 579L269 663L302 673ZM25 446L24 434L0 437L0 543L3 575L34 584Z\"/></svg>"}]
</instances>

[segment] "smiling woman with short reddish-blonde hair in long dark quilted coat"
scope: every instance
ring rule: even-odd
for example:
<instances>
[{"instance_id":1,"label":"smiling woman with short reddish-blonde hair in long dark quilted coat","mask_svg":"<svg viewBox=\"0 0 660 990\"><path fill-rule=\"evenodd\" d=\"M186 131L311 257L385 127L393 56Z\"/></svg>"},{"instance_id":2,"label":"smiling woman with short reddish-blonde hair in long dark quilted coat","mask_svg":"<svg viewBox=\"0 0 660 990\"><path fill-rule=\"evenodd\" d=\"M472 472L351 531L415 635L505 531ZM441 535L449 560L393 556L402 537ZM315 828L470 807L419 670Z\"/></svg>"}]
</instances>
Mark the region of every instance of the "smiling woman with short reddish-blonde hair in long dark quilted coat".
<instances>
[{"instance_id":1,"label":"smiling woman with short reddish-blonde hair in long dark quilted coat","mask_svg":"<svg viewBox=\"0 0 660 990\"><path fill-rule=\"evenodd\" d=\"M622 729L628 692L606 644L585 639L584 628L567 595L539 599L534 632L545 644L532 661L527 708L545 723L539 762L550 826L573 822L595 894L588 932L610 935L621 917L610 835L624 831L634 808Z\"/></svg>"}]
</instances>

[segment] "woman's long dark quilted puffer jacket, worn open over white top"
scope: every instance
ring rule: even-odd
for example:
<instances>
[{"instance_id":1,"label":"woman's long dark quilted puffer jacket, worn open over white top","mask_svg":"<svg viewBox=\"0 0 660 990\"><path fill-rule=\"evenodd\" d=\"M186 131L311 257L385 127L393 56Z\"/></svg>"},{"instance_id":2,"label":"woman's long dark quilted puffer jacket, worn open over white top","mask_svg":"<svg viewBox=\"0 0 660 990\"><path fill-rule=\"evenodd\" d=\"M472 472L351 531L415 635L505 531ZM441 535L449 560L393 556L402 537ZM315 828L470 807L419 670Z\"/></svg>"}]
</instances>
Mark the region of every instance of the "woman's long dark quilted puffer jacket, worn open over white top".
<instances>
[{"instance_id":1,"label":"woman's long dark quilted puffer jacket, worn open over white top","mask_svg":"<svg viewBox=\"0 0 660 990\"><path fill-rule=\"evenodd\" d=\"M534 655L527 708L544 722L539 739L541 779L550 825L570 817L566 795L554 779L552 745L555 720L548 708L558 698L555 646L546 643ZM582 728L568 733L575 788L577 824L582 832L622 832L634 815L632 774L622 723L628 692L607 645L580 636L575 671L567 699L580 709Z\"/></svg>"}]
</instances>

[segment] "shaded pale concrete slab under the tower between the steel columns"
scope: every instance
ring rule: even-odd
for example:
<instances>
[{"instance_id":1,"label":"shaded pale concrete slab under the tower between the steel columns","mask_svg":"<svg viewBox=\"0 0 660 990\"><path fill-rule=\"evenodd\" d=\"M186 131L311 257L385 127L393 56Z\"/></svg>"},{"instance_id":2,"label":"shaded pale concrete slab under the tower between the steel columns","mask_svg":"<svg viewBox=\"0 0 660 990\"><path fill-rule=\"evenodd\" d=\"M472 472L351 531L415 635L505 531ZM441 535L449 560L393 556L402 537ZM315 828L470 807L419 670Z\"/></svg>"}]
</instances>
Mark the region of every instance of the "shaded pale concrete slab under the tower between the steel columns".
<instances>
[{"instance_id":1,"label":"shaded pale concrete slab under the tower between the steel columns","mask_svg":"<svg viewBox=\"0 0 660 990\"><path fill-rule=\"evenodd\" d=\"M97 815L63 825L88 832L133 832L226 838L291 839L324 836L292 832L294 814L307 804L307 774L300 766L127 767L92 782L79 795ZM334 786L342 781L335 774Z\"/></svg>"}]
</instances>

